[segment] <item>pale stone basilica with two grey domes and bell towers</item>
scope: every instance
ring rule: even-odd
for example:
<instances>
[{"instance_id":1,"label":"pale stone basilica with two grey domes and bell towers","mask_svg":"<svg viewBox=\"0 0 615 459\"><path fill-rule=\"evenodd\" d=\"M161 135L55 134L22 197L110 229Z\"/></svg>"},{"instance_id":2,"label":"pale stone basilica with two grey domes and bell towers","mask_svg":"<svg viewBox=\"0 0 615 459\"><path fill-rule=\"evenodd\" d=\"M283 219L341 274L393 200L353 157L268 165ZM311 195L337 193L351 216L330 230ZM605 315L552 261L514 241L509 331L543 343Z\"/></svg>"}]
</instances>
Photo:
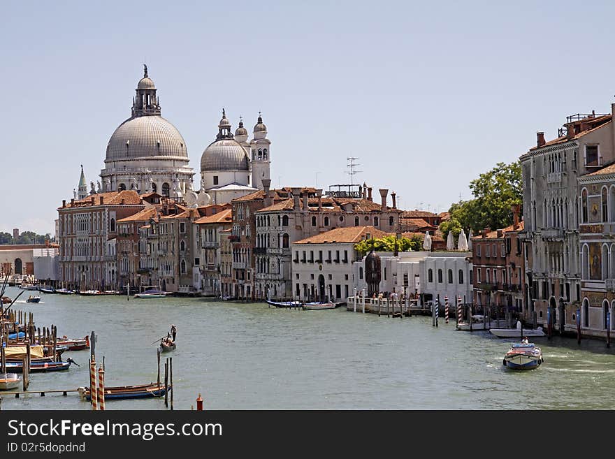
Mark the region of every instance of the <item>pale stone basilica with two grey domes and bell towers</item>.
<instances>
[{"instance_id":1,"label":"pale stone basilica with two grey domes and bell towers","mask_svg":"<svg viewBox=\"0 0 615 459\"><path fill-rule=\"evenodd\" d=\"M140 194L158 193L183 197L188 205L228 203L233 198L263 189L269 179L270 140L260 116L254 136L248 140L243 120L231 132L231 122L222 110L216 139L201 156L201 189L192 191L194 170L189 167L186 142L173 124L161 117L159 97L147 74L139 80L133 97L131 117L115 129L106 149L105 168L101 170L101 191L134 189ZM81 173L79 198L85 191ZM75 197L76 192L75 192Z\"/></svg>"}]
</instances>

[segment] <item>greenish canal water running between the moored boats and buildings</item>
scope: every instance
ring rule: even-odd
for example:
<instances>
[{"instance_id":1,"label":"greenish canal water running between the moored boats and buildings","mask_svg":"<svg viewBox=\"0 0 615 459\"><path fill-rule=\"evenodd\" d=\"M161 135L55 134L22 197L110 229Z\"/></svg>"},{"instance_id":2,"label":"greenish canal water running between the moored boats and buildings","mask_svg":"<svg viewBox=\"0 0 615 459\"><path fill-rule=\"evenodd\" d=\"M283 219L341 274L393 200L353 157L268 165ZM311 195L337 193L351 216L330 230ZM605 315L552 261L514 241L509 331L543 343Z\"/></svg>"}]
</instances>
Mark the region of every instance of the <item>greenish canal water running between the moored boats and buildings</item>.
<instances>
[{"instance_id":1,"label":"greenish canal water running between the moored boats and buildings","mask_svg":"<svg viewBox=\"0 0 615 459\"><path fill-rule=\"evenodd\" d=\"M6 295L15 298L17 288ZM24 292L20 300L30 293ZM59 335L98 335L106 385L157 380L155 340L178 328L173 357L174 409L615 409L615 349L604 341L535 339L544 364L514 372L502 366L510 340L455 330L440 318L378 317L345 307L301 311L266 303L205 298L126 300L124 296L41 293L17 300L37 326ZM615 344L614 344L615 347ZM65 352L79 367L31 374L30 391L74 389L89 380L89 351ZM163 364L164 365L164 364ZM163 373L164 374L164 373ZM75 393L2 393L4 410L89 409ZM107 409L165 409L164 398L116 400Z\"/></svg>"}]
</instances>

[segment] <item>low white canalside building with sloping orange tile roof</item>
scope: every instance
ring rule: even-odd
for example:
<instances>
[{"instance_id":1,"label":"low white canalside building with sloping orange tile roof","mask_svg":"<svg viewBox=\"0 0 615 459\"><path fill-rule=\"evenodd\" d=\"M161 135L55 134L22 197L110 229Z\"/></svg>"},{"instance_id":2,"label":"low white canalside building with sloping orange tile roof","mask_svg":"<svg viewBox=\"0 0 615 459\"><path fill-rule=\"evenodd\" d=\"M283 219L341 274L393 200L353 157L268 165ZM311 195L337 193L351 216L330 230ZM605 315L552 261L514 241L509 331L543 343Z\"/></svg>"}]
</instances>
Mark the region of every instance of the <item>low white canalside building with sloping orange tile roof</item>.
<instances>
[{"instance_id":1,"label":"low white canalside building with sloping orange tile roof","mask_svg":"<svg viewBox=\"0 0 615 459\"><path fill-rule=\"evenodd\" d=\"M335 228L294 242L292 283L297 300L340 301L352 293L352 263L359 258L354 245L361 240L382 238L373 226ZM271 291L274 296L275 292Z\"/></svg>"}]
</instances>

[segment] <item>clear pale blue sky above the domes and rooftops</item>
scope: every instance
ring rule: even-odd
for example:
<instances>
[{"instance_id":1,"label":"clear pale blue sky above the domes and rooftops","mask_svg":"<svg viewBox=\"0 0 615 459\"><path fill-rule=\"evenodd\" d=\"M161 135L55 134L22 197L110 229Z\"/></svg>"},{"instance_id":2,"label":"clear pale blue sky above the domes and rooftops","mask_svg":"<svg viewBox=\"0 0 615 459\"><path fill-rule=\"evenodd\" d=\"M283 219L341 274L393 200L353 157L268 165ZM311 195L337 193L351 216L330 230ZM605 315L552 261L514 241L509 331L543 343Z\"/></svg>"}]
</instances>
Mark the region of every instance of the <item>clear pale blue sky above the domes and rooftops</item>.
<instances>
[{"instance_id":1,"label":"clear pale blue sky above the domes and rooftops","mask_svg":"<svg viewBox=\"0 0 615 459\"><path fill-rule=\"evenodd\" d=\"M349 183L354 157L354 183L405 210L448 210L536 131L615 102L607 1L144 5L0 3L0 231L53 234L80 164L100 180L143 63L194 189L222 108L250 133L260 111L273 187Z\"/></svg>"}]
</instances>

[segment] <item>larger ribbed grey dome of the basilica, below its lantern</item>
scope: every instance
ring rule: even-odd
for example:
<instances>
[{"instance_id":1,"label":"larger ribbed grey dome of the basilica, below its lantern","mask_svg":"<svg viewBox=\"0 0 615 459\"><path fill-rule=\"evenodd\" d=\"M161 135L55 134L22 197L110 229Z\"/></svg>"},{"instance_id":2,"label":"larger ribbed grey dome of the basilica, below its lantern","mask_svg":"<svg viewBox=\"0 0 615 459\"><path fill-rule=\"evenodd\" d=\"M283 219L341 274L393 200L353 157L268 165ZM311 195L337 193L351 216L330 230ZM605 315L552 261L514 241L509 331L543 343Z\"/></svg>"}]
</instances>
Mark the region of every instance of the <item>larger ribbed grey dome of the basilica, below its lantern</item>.
<instances>
[{"instance_id":1,"label":"larger ribbed grey dome of the basilica, below its lantern","mask_svg":"<svg viewBox=\"0 0 615 459\"><path fill-rule=\"evenodd\" d=\"M136 158L188 159L184 138L161 116L126 119L109 139L105 161Z\"/></svg>"}]
</instances>

